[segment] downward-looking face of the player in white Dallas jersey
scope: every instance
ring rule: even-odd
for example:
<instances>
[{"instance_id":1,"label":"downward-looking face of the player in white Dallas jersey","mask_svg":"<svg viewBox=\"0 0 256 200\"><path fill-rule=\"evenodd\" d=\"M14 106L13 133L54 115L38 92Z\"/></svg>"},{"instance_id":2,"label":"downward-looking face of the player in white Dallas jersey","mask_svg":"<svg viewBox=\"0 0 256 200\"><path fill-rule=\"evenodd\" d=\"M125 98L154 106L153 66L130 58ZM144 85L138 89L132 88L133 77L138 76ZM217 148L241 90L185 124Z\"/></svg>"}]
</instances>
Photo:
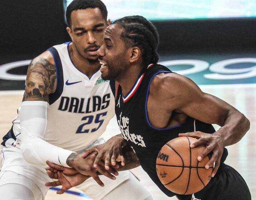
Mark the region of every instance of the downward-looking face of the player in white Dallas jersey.
<instances>
[{"instance_id":1,"label":"downward-looking face of the player in white Dallas jersey","mask_svg":"<svg viewBox=\"0 0 256 200\"><path fill-rule=\"evenodd\" d=\"M77 52L89 60L97 60L96 51L103 41L103 34L110 21L103 19L99 8L71 12L71 28L67 28Z\"/></svg>"}]
</instances>

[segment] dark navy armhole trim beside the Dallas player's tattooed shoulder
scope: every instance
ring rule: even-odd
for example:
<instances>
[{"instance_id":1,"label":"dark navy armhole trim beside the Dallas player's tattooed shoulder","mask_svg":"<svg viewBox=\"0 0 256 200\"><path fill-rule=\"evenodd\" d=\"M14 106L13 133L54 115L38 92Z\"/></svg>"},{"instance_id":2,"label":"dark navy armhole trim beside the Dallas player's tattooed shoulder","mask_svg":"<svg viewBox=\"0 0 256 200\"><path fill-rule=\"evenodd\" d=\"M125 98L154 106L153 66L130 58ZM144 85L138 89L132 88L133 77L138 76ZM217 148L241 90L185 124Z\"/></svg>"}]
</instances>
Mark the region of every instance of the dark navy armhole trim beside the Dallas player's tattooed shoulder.
<instances>
[{"instance_id":1,"label":"dark navy armhole trim beside the Dallas player's tattooed shoulder","mask_svg":"<svg viewBox=\"0 0 256 200\"><path fill-rule=\"evenodd\" d=\"M57 75L56 89L52 94L49 94L49 105L51 105L61 96L61 94L63 92L64 80L63 80L63 69L62 69L62 64L61 64L61 58L59 57L59 53L58 53L57 49L55 49L54 47L51 47L47 50L53 56L54 63L55 63L56 75Z\"/></svg>"}]
</instances>

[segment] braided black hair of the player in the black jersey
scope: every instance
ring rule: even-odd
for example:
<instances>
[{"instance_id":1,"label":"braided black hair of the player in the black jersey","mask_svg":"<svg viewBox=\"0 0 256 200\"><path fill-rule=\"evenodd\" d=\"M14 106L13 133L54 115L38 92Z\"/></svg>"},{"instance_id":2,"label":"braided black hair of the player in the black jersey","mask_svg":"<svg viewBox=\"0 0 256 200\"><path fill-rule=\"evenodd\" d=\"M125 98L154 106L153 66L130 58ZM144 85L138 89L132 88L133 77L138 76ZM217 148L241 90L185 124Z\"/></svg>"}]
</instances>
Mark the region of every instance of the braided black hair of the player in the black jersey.
<instances>
[{"instance_id":1,"label":"braided black hair of the player in the black jersey","mask_svg":"<svg viewBox=\"0 0 256 200\"><path fill-rule=\"evenodd\" d=\"M142 51L145 67L151 63L157 63L159 56L157 53L159 35L153 24L143 16L127 16L118 19L113 24L120 25L124 31L121 38L126 46L138 46Z\"/></svg>"}]
</instances>

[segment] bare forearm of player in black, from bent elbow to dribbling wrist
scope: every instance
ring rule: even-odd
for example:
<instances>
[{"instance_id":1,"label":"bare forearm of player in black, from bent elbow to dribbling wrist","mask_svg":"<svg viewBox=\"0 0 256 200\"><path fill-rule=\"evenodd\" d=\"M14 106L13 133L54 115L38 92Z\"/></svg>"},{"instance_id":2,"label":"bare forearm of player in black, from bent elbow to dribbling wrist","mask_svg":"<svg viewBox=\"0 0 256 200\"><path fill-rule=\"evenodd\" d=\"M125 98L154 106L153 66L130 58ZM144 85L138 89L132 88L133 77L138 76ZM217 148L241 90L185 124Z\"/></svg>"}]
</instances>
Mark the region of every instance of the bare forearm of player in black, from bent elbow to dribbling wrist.
<instances>
[{"instance_id":1,"label":"bare forearm of player in black, from bent elbow to dribbling wrist","mask_svg":"<svg viewBox=\"0 0 256 200\"><path fill-rule=\"evenodd\" d=\"M229 110L224 125L215 133L222 137L224 146L237 143L250 128L250 121L239 111Z\"/></svg>"}]
</instances>

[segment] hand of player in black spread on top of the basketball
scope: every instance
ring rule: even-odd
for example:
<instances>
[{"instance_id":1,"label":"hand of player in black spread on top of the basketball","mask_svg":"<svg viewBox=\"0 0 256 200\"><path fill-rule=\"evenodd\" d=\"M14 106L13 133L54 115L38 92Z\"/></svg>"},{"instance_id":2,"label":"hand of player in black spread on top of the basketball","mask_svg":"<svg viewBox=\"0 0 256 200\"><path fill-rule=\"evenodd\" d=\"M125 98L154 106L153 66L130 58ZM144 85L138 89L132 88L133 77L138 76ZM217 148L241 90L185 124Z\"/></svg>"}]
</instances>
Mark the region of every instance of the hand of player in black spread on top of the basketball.
<instances>
[{"instance_id":1,"label":"hand of player in black spread on top of the basketball","mask_svg":"<svg viewBox=\"0 0 256 200\"><path fill-rule=\"evenodd\" d=\"M198 139L198 141L194 142L193 144L190 144L191 148L197 147L197 146L206 146L206 148L203 150L201 155L197 157L198 161L201 161L205 156L207 156L211 151L213 152L213 155L211 159L207 162L205 168L209 169L209 166L212 165L215 162L214 169L212 172L212 177L216 174L220 161L221 156L223 154L223 141L221 139L221 136L215 132L213 134L204 133L201 131L195 131L195 132L187 132L187 133L180 133L179 137L195 137Z\"/></svg>"}]
</instances>

